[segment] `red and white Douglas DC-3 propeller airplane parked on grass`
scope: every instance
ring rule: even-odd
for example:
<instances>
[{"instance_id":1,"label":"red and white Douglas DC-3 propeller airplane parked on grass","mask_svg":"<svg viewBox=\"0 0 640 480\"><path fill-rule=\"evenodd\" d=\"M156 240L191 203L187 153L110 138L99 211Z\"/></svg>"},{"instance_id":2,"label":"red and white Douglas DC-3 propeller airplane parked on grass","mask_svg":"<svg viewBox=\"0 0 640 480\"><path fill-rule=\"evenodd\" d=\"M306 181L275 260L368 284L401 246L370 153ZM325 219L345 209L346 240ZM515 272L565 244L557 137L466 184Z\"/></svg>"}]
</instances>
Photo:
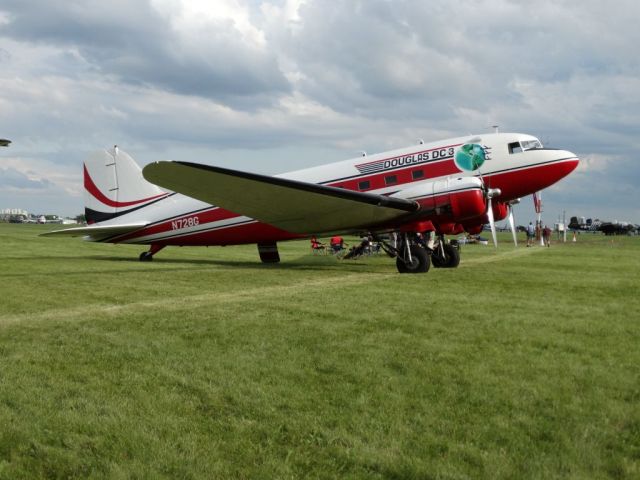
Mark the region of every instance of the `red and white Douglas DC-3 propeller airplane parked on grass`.
<instances>
[{"instance_id":1,"label":"red and white Douglas DC-3 propeller airplane parked on grass","mask_svg":"<svg viewBox=\"0 0 640 480\"><path fill-rule=\"evenodd\" d=\"M279 241L366 233L396 257L401 273L426 272L431 263L458 266L445 235L479 233L489 223L495 243L496 220L513 225L520 197L578 162L517 133L420 142L276 176L180 161L141 170L114 147L84 164L88 226L44 235L150 245L143 261L167 245L256 243L263 262L278 262Z\"/></svg>"}]
</instances>

